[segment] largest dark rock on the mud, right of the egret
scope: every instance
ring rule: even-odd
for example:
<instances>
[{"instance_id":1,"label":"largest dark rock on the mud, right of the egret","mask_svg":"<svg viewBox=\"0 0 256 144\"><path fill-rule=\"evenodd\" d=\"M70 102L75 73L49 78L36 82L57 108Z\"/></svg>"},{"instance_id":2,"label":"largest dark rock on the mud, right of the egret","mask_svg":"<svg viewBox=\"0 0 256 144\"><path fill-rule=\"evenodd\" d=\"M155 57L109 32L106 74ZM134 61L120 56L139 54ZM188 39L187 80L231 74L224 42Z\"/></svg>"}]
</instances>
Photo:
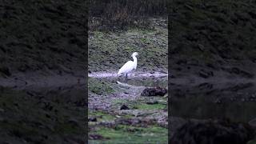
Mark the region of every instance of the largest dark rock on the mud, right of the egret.
<instances>
[{"instance_id":1,"label":"largest dark rock on the mud, right of the egret","mask_svg":"<svg viewBox=\"0 0 256 144\"><path fill-rule=\"evenodd\" d=\"M142 96L164 96L167 94L166 88L154 87L154 88L146 88L142 91Z\"/></svg>"}]
</instances>

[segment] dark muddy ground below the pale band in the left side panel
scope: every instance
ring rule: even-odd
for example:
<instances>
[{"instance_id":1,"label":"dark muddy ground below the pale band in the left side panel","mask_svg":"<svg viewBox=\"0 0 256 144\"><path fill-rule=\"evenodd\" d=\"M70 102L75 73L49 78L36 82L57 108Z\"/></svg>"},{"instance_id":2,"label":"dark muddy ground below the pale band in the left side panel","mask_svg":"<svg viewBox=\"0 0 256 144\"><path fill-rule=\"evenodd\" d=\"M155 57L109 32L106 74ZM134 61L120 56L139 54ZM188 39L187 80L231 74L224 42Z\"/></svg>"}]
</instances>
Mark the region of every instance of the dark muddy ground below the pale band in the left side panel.
<instances>
[{"instance_id":1,"label":"dark muddy ground below the pale band in the left side panel","mask_svg":"<svg viewBox=\"0 0 256 144\"><path fill-rule=\"evenodd\" d=\"M17 90L1 86L0 141L84 143L84 86Z\"/></svg>"}]
</instances>

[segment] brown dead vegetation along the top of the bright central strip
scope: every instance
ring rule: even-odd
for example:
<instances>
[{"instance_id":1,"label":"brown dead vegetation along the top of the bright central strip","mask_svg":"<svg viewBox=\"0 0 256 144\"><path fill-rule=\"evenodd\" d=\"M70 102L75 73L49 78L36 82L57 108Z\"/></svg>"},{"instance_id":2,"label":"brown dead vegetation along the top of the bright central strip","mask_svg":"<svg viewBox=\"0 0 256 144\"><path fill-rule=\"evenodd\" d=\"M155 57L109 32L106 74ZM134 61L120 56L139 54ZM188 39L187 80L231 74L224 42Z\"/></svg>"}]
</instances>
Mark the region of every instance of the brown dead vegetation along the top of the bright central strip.
<instances>
[{"instance_id":1,"label":"brown dead vegetation along the top of the bright central strip","mask_svg":"<svg viewBox=\"0 0 256 144\"><path fill-rule=\"evenodd\" d=\"M90 0L90 30L148 28L149 18L167 15L166 0Z\"/></svg>"}]
</instances>

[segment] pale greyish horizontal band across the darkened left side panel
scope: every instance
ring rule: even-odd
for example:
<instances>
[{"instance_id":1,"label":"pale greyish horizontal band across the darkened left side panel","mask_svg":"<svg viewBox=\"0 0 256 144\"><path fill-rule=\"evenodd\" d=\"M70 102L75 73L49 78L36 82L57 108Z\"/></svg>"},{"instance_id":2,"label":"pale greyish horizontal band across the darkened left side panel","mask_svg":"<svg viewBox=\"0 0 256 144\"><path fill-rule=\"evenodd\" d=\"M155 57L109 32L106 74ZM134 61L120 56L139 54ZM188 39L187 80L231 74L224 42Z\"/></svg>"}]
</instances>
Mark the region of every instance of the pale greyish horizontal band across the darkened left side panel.
<instances>
[{"instance_id":1,"label":"pale greyish horizontal band across the darkened left side panel","mask_svg":"<svg viewBox=\"0 0 256 144\"><path fill-rule=\"evenodd\" d=\"M84 72L83 72L84 73ZM56 88L60 86L85 85L86 79L78 74L14 74L9 78L0 78L0 86L17 90L33 90L34 88Z\"/></svg>"}]
</instances>

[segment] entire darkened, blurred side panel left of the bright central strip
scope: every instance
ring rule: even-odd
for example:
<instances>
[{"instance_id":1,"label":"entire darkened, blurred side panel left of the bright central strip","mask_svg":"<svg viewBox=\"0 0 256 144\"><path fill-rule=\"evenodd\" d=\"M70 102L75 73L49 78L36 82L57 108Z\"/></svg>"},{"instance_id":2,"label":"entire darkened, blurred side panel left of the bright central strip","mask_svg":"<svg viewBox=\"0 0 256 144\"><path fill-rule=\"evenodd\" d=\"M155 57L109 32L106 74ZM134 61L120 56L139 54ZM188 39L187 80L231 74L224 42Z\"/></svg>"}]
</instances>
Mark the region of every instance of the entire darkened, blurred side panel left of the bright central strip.
<instances>
[{"instance_id":1,"label":"entire darkened, blurred side panel left of the bright central strip","mask_svg":"<svg viewBox=\"0 0 256 144\"><path fill-rule=\"evenodd\" d=\"M0 6L0 143L85 143L86 3Z\"/></svg>"}]
</instances>

